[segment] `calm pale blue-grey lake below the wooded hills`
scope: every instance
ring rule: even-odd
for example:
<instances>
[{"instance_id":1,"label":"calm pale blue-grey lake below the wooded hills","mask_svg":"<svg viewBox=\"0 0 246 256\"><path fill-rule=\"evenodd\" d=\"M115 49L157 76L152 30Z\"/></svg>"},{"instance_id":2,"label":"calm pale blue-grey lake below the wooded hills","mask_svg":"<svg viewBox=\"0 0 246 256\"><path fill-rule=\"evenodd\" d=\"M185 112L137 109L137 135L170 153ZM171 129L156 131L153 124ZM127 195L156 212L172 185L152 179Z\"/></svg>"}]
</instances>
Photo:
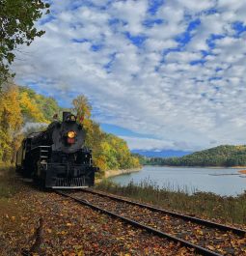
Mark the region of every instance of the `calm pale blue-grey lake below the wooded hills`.
<instances>
[{"instance_id":1,"label":"calm pale blue-grey lake below the wooded hills","mask_svg":"<svg viewBox=\"0 0 246 256\"><path fill-rule=\"evenodd\" d=\"M244 168L245 169L245 168ZM127 185L149 181L160 187L177 190L185 189L213 192L223 196L236 196L246 190L246 175L239 174L242 169L235 168L197 168L144 166L139 172L112 177L110 180Z\"/></svg>"}]
</instances>

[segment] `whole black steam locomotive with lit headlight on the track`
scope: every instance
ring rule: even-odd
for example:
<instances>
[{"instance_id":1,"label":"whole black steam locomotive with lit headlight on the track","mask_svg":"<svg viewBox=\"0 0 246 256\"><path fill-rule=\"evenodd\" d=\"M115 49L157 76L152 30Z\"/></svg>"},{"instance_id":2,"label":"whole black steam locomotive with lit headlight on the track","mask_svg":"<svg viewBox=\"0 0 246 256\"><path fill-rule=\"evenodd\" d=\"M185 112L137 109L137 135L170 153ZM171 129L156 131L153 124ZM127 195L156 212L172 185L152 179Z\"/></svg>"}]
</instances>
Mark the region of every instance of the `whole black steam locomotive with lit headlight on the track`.
<instances>
[{"instance_id":1,"label":"whole black steam locomotive with lit headlight on the track","mask_svg":"<svg viewBox=\"0 0 246 256\"><path fill-rule=\"evenodd\" d=\"M41 132L22 141L16 155L16 170L45 187L74 188L95 184L92 151L84 147L85 130L76 117L63 112L63 121L54 121Z\"/></svg>"}]
</instances>

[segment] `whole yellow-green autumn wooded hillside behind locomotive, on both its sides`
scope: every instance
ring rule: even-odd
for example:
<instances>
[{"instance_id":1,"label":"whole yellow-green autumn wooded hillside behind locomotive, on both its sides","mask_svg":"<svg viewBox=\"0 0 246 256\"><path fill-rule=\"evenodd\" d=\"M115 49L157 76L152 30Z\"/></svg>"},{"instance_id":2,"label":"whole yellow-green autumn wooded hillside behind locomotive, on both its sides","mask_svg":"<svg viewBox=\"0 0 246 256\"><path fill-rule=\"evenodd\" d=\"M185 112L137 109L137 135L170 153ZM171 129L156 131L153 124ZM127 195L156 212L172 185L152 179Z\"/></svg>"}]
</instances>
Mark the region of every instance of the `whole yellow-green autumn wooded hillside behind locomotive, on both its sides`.
<instances>
[{"instance_id":1,"label":"whole yellow-green autumn wooded hillside behind locomotive, on both its sides","mask_svg":"<svg viewBox=\"0 0 246 256\"><path fill-rule=\"evenodd\" d=\"M55 113L63 109L53 98L37 94L28 87L6 84L0 91L0 162L14 162L15 153L24 135L45 128ZM92 106L84 96L73 100L74 114L86 129L86 146L93 149L96 165L104 170L139 167L123 139L102 131L91 118Z\"/></svg>"}]
</instances>

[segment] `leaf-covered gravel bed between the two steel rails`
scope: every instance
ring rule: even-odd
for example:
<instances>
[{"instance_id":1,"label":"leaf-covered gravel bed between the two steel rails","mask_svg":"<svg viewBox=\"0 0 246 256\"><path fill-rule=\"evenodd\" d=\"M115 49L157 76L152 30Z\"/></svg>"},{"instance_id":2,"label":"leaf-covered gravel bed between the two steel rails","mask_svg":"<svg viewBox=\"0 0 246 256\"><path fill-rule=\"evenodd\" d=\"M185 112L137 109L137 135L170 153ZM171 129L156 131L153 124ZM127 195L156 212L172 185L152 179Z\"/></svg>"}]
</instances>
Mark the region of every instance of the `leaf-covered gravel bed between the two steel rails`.
<instances>
[{"instance_id":1,"label":"leaf-covered gravel bed between the two steel rails","mask_svg":"<svg viewBox=\"0 0 246 256\"><path fill-rule=\"evenodd\" d=\"M86 191L75 191L69 194L87 200L112 213L117 213L161 232L168 233L178 239L205 247L218 254L246 255L244 231L238 231L239 235L236 235L233 234L233 232L236 233L235 229L232 229L232 231L219 230L218 228L194 223L191 220L187 221L167 213L158 213L150 210L150 208L147 209L129 204L128 202L121 202L114 198L98 195L95 194L95 190L93 192L91 193L90 189L87 189Z\"/></svg>"}]
</instances>

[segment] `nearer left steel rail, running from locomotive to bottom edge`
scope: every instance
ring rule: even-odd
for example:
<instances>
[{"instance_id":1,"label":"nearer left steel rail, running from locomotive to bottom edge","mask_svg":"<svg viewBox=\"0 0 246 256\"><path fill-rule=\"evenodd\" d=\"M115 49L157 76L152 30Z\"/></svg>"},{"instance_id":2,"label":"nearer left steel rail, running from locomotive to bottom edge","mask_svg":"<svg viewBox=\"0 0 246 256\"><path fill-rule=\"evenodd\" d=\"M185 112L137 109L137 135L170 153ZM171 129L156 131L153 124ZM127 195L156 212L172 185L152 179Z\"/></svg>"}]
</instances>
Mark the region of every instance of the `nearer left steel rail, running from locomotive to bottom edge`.
<instances>
[{"instance_id":1,"label":"nearer left steel rail, running from locomotive to bottom edge","mask_svg":"<svg viewBox=\"0 0 246 256\"><path fill-rule=\"evenodd\" d=\"M132 219L129 219L127 217L123 217L117 213L112 213L112 212L109 212L105 209L102 209L100 207L97 207L96 205L93 205L91 203L89 203L87 200L83 200L83 199L79 199L79 198L76 198L74 196L71 196L69 195L68 193L65 193L65 192L62 192L62 191L59 191L59 190L55 190L55 192L59 195L62 195L62 196L66 196L70 199L72 199L73 201L79 203L79 204L82 204L82 205L85 205L85 206L88 206L100 213L106 213L112 217L115 217L115 218L119 218L119 219L122 219L124 222L126 223L129 223L131 224L132 226L134 227L137 227L137 228L141 228L143 230L146 230L147 232L149 232L150 234L153 234L153 235L156 235L158 237L161 237L161 238L165 238L165 239L168 239L170 241L173 241L173 242L179 242L181 245L185 246L185 247L189 247L189 248L192 248L194 249L194 252L196 253L199 253L199 254L202 254L204 256L222 256L222 254L218 254L216 252L213 252L211 250L208 250L202 246L199 246L199 245L196 245L192 242L186 242L184 240L181 240L181 239L178 239L174 236L171 236L170 234L167 234L167 233L164 233L164 232L161 232L157 229L153 229L151 228L150 226L146 226L146 225L143 225L137 221L134 221Z\"/></svg>"}]
</instances>

